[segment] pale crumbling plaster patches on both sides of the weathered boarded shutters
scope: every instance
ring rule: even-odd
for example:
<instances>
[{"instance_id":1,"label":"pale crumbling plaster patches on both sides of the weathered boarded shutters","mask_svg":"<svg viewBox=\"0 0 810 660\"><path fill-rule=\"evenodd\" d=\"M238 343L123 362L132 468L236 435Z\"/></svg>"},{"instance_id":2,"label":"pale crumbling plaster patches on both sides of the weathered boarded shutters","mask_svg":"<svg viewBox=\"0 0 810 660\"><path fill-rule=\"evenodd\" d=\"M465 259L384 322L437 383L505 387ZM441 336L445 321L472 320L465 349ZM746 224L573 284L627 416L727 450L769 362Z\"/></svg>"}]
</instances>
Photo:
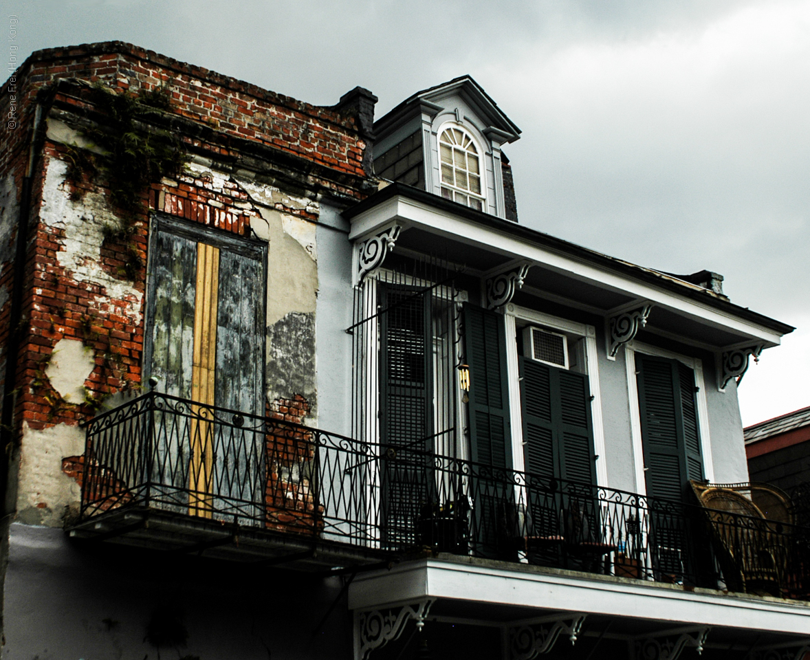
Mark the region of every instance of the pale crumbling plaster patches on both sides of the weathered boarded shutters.
<instances>
[{"instance_id":1,"label":"pale crumbling plaster patches on both sides of the weathered boarded shutters","mask_svg":"<svg viewBox=\"0 0 810 660\"><path fill-rule=\"evenodd\" d=\"M213 189L233 181L228 174L190 163L188 177L204 177ZM269 245L266 301L266 383L271 409L296 394L308 402L310 419L317 414L315 386L315 304L318 289L318 252L315 240L318 203L283 194L255 181L237 181L249 196L245 207L254 215L251 227ZM307 217L293 215L301 213ZM87 192L81 199L70 194L66 164L46 164L40 220L62 236L56 253L59 266L78 282L92 285L90 307L104 317L128 317L143 326L143 291L134 283L109 275L100 257L104 225L118 219L104 195ZM99 321L100 322L100 321ZM57 324L58 325L58 324ZM53 347L45 369L49 384L66 402L79 402L94 367L92 351L80 341L62 338ZM78 433L78 435L77 435ZM60 526L79 505L75 480L62 472L62 459L83 453L83 434L75 426L23 428L19 466L18 512L21 522Z\"/></svg>"}]
</instances>

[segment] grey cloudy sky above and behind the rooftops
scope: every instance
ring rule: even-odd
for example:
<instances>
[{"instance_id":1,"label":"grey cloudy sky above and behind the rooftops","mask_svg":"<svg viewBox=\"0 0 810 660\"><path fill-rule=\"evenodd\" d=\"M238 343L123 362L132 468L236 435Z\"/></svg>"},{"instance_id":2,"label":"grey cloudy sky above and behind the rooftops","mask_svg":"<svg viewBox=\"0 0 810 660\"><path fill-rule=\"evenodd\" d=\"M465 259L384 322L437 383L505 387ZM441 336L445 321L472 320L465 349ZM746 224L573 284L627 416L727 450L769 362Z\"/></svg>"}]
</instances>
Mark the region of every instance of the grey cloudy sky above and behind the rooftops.
<instances>
[{"instance_id":1,"label":"grey cloudy sky above and behind the rooftops","mask_svg":"<svg viewBox=\"0 0 810 660\"><path fill-rule=\"evenodd\" d=\"M125 40L382 116L472 75L523 130L527 224L797 326L740 387L744 424L810 406L810 0L11 0L23 56Z\"/></svg>"}]
</instances>

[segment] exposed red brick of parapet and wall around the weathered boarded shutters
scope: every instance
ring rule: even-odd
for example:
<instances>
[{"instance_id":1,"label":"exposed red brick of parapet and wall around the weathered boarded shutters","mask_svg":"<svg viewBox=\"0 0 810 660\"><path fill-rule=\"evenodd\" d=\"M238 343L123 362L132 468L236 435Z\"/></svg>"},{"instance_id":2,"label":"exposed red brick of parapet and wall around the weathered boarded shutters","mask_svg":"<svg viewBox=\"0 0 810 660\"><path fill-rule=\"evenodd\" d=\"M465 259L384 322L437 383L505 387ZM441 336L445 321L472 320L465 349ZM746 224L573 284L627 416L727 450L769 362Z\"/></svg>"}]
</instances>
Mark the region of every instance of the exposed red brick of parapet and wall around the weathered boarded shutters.
<instances>
[{"instance_id":1,"label":"exposed red brick of parapet and wall around the weathered boarded shutters","mask_svg":"<svg viewBox=\"0 0 810 660\"><path fill-rule=\"evenodd\" d=\"M18 191L27 161L28 125L35 97L46 104L46 114L50 108L52 115L62 118L67 115L96 121L92 89L87 85L58 84L67 79L104 83L117 92L163 87L172 98L171 113L181 122L174 130L181 131L181 142L188 151L228 161L233 160L235 150L249 143L265 147L262 154L270 154L271 158L273 154L280 158L284 153L295 156L292 161L282 159L282 164L306 168L301 164L309 161L317 166L308 170L309 179L305 180L311 186L310 197L322 189L348 198L364 194L367 178L363 156L367 145L356 109L320 108L120 42L38 51L20 67L15 75L18 128L3 135L0 155L0 176L11 174ZM6 84L0 95L3 109L11 104L8 88ZM143 266L130 276L123 270L130 257L130 245L134 245L140 262L147 262L147 208L238 234L248 231L257 212L245 190L232 178L185 172L174 179L153 181L150 189L144 190L143 211L135 213L130 245L117 243L114 236L104 238L100 245L98 262L107 279L95 282L79 278L60 265L60 257L73 249L75 241L75 236L66 236L66 232L75 227L70 227L70 221L66 226L36 219L36 211L41 211L43 204L47 169L54 161L70 160L70 153L64 144L46 140L41 154L33 186L34 211L23 300L28 336L20 352L22 373L18 372L16 417L33 428L77 424L92 415L95 404L110 394L139 387L146 273ZM297 185L296 192L307 194L300 189L301 179ZM100 175L83 176L78 181L65 181L61 192L74 199L77 207L102 213L92 208L92 202L101 200L96 206L104 206L103 200L109 198L109 182ZM288 207L280 201L275 208L308 219L318 218L317 205ZM111 212L109 208L107 211ZM16 223L16 218L8 216L2 221ZM6 292L11 292L11 274L11 263L6 262L0 272L0 287ZM121 281L126 297L117 298L109 291L111 279ZM3 345L7 341L9 310L8 303L0 307L0 321L5 321L0 325ZM85 381L89 405L66 403L43 377L53 347L65 338L80 341L93 352L96 366Z\"/></svg>"}]
</instances>

